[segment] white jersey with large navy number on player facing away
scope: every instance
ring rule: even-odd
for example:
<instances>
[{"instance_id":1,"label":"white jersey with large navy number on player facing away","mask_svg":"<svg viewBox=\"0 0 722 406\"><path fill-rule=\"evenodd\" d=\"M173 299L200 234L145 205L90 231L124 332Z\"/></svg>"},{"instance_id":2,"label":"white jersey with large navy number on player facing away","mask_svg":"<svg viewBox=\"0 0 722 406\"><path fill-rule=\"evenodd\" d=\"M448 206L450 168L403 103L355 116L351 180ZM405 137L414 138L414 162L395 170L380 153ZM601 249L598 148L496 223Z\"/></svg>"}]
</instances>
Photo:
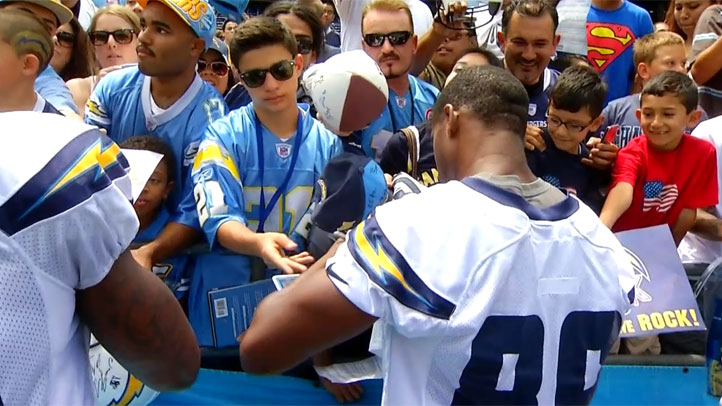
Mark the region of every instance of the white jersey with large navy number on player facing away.
<instances>
[{"instance_id":1,"label":"white jersey with large navy number on player facing away","mask_svg":"<svg viewBox=\"0 0 722 406\"><path fill-rule=\"evenodd\" d=\"M578 199L475 177L379 207L327 272L379 318L387 405L589 403L634 286Z\"/></svg>"}]
</instances>

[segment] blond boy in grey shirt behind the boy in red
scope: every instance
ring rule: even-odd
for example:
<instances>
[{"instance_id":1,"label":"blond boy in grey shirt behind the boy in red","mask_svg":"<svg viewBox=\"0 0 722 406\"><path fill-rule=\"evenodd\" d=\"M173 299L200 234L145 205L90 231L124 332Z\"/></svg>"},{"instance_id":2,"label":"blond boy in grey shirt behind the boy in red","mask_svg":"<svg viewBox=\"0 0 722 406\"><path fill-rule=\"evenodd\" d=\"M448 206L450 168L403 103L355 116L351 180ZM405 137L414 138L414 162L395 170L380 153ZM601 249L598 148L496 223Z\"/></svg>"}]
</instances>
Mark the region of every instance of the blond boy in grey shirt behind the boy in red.
<instances>
[{"instance_id":1,"label":"blond boy in grey shirt behind the boy in red","mask_svg":"<svg viewBox=\"0 0 722 406\"><path fill-rule=\"evenodd\" d=\"M662 72L687 73L685 52L684 39L673 32L655 32L637 40L634 43L634 66L637 67L642 86ZM619 148L642 133L637 119L638 109L639 93L635 93L612 101L602 112L604 122L601 128L604 133L610 126L619 125L619 132L612 140ZM701 120L706 119L707 115L703 111Z\"/></svg>"}]
</instances>

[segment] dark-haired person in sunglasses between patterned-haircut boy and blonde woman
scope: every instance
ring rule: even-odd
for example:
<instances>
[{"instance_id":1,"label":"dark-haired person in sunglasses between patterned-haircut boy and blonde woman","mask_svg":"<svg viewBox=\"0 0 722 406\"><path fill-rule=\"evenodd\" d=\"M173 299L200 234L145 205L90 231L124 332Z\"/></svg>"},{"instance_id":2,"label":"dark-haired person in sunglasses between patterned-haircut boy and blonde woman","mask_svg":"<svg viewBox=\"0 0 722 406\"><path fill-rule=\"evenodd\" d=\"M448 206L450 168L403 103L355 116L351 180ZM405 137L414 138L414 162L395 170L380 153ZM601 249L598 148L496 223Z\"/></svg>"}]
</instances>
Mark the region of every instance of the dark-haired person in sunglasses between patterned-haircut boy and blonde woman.
<instances>
[{"instance_id":1,"label":"dark-haired person in sunglasses between patterned-haircut boy and blonde woman","mask_svg":"<svg viewBox=\"0 0 722 406\"><path fill-rule=\"evenodd\" d=\"M75 17L69 23L58 27L53 42L55 49L50 66L64 81L93 74L95 59L90 50L88 34Z\"/></svg>"}]
</instances>

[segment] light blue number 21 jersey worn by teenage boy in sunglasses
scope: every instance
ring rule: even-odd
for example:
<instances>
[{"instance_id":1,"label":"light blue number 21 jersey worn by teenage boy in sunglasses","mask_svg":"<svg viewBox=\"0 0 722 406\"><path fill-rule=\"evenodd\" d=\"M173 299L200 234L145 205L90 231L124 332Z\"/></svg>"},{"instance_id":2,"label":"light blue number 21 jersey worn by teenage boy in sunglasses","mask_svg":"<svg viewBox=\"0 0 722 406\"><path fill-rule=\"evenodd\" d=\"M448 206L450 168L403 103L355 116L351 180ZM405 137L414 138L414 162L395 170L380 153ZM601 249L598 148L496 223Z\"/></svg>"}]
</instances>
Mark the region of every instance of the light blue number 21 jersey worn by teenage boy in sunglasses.
<instances>
[{"instance_id":1,"label":"light blue number 21 jersey worn by teenage boy in sunglasses","mask_svg":"<svg viewBox=\"0 0 722 406\"><path fill-rule=\"evenodd\" d=\"M215 258L196 259L191 280L189 318L201 345L213 345L207 292L247 283L251 273L250 257L224 254L218 246L218 228L227 221L238 221L257 231L265 215L263 231L288 235L302 251L304 236L295 230L311 204L326 163L342 152L338 137L301 109L299 131L288 140L265 127L257 132L256 125L252 103L217 120L203 136L193 164L198 221L216 254ZM271 204L274 195L277 200ZM230 270L227 263L232 263Z\"/></svg>"}]
</instances>

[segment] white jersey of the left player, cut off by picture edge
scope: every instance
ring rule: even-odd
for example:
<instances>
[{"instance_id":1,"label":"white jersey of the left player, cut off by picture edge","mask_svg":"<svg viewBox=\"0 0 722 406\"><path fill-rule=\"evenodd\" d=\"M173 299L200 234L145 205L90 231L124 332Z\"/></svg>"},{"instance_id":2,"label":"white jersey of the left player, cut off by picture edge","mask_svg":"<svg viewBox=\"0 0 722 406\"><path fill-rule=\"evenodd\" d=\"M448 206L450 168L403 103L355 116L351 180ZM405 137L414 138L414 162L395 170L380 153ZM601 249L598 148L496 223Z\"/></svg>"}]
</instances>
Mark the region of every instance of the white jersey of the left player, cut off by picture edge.
<instances>
[{"instance_id":1,"label":"white jersey of the left player, cut off by picture edge","mask_svg":"<svg viewBox=\"0 0 722 406\"><path fill-rule=\"evenodd\" d=\"M75 291L98 284L138 220L128 163L97 128L0 114L0 400L94 404Z\"/></svg>"}]
</instances>

